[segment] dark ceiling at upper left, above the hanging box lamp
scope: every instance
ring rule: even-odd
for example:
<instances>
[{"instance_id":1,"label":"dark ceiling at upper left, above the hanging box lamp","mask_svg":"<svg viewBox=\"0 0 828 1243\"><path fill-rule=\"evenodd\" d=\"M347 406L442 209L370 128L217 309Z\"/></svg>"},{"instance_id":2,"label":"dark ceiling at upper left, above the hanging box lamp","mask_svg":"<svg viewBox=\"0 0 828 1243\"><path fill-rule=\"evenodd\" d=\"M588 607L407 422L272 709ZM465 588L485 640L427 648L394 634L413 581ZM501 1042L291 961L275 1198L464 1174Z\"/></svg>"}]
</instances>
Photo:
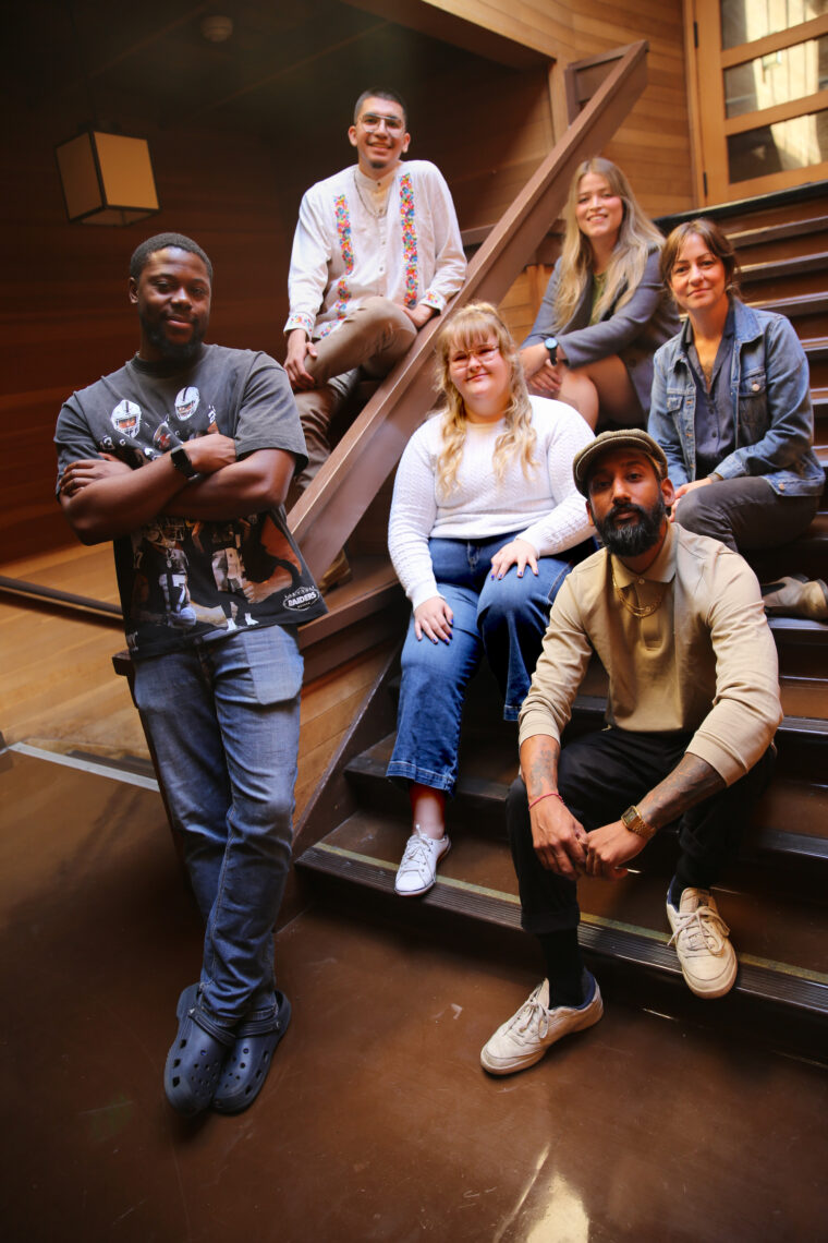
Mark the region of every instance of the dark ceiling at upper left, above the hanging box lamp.
<instances>
[{"instance_id":1,"label":"dark ceiling at upper left, above the hanging box lamp","mask_svg":"<svg viewBox=\"0 0 828 1243\"><path fill-rule=\"evenodd\" d=\"M223 44L201 30L217 12L233 22ZM4 93L27 112L60 108L67 134L88 124L128 133L140 119L293 148L299 133L313 142L341 124L340 101L366 85L395 86L416 116L433 109L452 67L479 66L483 83L485 56L514 67L541 60L415 0L25 0L5 22Z\"/></svg>"}]
</instances>

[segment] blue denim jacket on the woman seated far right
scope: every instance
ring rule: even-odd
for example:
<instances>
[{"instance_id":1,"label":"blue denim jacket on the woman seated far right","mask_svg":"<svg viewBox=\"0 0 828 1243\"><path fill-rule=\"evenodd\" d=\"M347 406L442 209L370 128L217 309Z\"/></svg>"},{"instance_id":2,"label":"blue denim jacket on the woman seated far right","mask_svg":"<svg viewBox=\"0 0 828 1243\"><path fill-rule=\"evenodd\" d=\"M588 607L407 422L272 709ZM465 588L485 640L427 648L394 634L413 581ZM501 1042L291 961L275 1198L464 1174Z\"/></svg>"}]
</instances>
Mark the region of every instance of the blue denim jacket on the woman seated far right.
<instances>
[{"instance_id":1,"label":"blue denim jacket on the woman seated far right","mask_svg":"<svg viewBox=\"0 0 828 1243\"><path fill-rule=\"evenodd\" d=\"M736 449L716 466L722 479L763 475L783 496L822 492L824 472L813 449L808 362L785 316L734 306L730 398ZM696 389L688 358L689 323L657 352L649 408L650 436L667 454L675 487L695 479ZM724 378L724 377L722 377Z\"/></svg>"}]
</instances>

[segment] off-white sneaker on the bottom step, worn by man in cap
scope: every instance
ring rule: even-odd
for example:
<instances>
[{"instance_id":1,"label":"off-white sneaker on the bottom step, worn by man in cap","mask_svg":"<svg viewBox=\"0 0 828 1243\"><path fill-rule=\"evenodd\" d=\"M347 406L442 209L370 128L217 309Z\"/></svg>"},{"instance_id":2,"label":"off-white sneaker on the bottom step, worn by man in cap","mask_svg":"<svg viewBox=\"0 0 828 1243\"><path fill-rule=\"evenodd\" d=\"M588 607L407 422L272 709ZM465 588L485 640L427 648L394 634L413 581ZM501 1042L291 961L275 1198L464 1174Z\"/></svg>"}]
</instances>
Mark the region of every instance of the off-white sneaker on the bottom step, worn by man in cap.
<instances>
[{"instance_id":1,"label":"off-white sneaker on the bottom step, worn by man in cap","mask_svg":"<svg viewBox=\"0 0 828 1243\"><path fill-rule=\"evenodd\" d=\"M727 940L730 929L706 889L688 888L678 909L667 894L667 917L673 929L679 966L688 987L698 997L724 997L734 987L739 963Z\"/></svg>"}]
</instances>

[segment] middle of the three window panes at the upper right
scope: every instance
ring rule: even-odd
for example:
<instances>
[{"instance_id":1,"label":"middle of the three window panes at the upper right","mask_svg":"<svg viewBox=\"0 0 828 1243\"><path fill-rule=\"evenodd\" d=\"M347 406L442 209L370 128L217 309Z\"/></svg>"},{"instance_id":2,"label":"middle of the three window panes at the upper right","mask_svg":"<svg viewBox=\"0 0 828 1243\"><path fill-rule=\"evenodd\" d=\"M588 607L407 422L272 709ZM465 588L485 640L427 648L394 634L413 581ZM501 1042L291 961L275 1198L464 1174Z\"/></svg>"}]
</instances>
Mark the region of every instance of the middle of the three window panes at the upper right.
<instances>
[{"instance_id":1,"label":"middle of the three window panes at the upper right","mask_svg":"<svg viewBox=\"0 0 828 1243\"><path fill-rule=\"evenodd\" d=\"M725 116L802 99L828 86L828 37L809 39L725 70Z\"/></svg>"}]
</instances>

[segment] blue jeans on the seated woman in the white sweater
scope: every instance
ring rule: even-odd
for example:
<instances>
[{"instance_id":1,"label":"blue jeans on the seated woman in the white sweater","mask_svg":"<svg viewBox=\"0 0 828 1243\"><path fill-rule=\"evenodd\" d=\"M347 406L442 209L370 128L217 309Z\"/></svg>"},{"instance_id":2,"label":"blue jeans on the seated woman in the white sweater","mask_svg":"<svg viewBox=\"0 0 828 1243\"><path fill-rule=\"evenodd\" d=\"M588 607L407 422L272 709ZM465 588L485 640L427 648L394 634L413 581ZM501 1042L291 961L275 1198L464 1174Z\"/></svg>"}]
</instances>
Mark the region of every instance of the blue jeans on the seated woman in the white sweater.
<instances>
[{"instance_id":1,"label":"blue jeans on the seated woman in the white sweater","mask_svg":"<svg viewBox=\"0 0 828 1243\"><path fill-rule=\"evenodd\" d=\"M449 643L417 639L413 618L402 649L402 685L397 738L387 776L453 794L463 697L485 656L492 666L506 721L516 721L526 697L549 610L575 566L593 551L592 541L557 557L538 558L538 577L511 566L492 578L492 558L514 536L495 539L430 539L439 594L453 614Z\"/></svg>"}]
</instances>

